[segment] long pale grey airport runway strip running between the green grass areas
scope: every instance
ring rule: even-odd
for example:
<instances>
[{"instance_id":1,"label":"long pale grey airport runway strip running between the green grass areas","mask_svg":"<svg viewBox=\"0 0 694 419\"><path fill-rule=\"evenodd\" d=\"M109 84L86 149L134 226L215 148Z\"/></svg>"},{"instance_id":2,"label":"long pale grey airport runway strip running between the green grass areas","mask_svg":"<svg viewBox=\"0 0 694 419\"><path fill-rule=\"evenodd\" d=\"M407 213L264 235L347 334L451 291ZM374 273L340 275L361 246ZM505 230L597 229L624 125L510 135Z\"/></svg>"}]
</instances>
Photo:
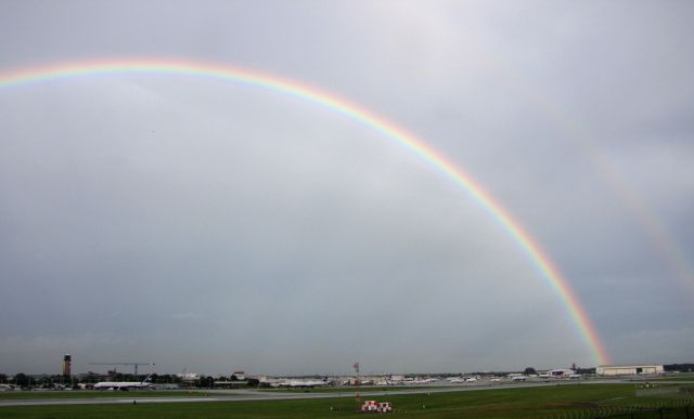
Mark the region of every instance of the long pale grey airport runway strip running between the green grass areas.
<instances>
[{"instance_id":1,"label":"long pale grey airport runway strip running between the green grass areas","mask_svg":"<svg viewBox=\"0 0 694 419\"><path fill-rule=\"evenodd\" d=\"M581 384L615 384L625 383L620 380L600 380L584 382L525 382L525 383L503 383L503 384L471 384L461 387L446 387L440 389L407 389L407 390L383 390L362 392L363 398L380 397L388 395L409 395L409 394L430 394L430 393L451 393L467 391L485 391L517 388L537 388L551 385L581 385ZM303 398L345 398L354 397L354 389L345 389L344 392L329 393L281 393L281 392L261 392L257 390L210 390L194 391L201 396L188 397L93 397L93 398L29 398L29 400L0 400L2 406L53 406L53 405L105 405L105 404L143 404L143 403L213 403L213 402L249 402L249 401L284 401L284 400L303 400Z\"/></svg>"}]
</instances>

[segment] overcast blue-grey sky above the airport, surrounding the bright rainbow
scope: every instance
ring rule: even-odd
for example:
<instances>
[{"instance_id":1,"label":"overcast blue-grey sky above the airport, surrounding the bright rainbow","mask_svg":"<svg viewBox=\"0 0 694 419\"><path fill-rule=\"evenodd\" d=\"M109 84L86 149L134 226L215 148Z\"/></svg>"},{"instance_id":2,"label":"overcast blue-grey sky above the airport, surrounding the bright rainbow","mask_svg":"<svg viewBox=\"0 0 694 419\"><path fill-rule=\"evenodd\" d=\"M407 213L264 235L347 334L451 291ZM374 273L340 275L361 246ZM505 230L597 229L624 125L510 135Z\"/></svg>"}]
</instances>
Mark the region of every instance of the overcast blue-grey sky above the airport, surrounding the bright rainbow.
<instances>
[{"instance_id":1,"label":"overcast blue-grey sky above the airport, surrounding the bright rainbow","mask_svg":"<svg viewBox=\"0 0 694 419\"><path fill-rule=\"evenodd\" d=\"M0 78L172 58L410 131L564 273L613 363L693 362L694 3L2 1ZM0 89L0 372L594 366L464 191L314 103L203 77Z\"/></svg>"}]
</instances>

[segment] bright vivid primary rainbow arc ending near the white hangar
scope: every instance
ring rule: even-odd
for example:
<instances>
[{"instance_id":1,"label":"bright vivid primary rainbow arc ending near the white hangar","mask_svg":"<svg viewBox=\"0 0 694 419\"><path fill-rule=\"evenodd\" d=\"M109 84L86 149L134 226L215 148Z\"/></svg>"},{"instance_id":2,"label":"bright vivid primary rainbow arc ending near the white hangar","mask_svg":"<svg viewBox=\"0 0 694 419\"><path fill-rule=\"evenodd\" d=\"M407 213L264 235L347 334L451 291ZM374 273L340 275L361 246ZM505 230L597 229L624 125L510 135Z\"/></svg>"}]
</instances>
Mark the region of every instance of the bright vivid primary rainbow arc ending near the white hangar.
<instances>
[{"instance_id":1,"label":"bright vivid primary rainbow arc ending near the white hangar","mask_svg":"<svg viewBox=\"0 0 694 419\"><path fill-rule=\"evenodd\" d=\"M463 169L455 167L445 156L437 153L414 135L365 108L318 89L273 75L243 70L226 65L221 66L188 61L110 60L54 64L0 73L0 88L17 87L39 81L112 74L203 76L269 89L327 107L394 140L396 143L404 146L429 162L458 186L462 187L503 227L529 257L558 297L575 324L577 332L591 351L594 361L597 364L608 363L607 352L588 317L586 310L574 294L574 291L562 273L552 263L547 252L540 248L532 236Z\"/></svg>"}]
</instances>

